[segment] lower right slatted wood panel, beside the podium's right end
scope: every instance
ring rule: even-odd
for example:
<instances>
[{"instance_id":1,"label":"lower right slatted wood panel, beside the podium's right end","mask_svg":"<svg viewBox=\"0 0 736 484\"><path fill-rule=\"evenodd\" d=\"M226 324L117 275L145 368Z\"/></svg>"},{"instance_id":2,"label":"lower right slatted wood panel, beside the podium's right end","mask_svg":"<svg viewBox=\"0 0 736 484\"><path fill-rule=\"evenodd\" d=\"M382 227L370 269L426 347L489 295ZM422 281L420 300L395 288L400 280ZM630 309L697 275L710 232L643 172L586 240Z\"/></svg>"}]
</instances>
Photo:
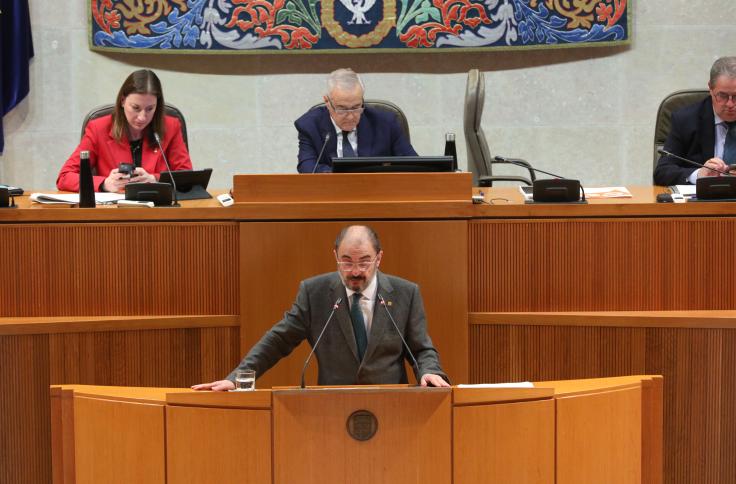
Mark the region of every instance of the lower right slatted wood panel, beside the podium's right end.
<instances>
[{"instance_id":1,"label":"lower right slatted wood panel, beside the podium's right end","mask_svg":"<svg viewBox=\"0 0 736 484\"><path fill-rule=\"evenodd\" d=\"M664 482L736 482L736 330L471 325L473 383L664 376Z\"/></svg>"}]
</instances>

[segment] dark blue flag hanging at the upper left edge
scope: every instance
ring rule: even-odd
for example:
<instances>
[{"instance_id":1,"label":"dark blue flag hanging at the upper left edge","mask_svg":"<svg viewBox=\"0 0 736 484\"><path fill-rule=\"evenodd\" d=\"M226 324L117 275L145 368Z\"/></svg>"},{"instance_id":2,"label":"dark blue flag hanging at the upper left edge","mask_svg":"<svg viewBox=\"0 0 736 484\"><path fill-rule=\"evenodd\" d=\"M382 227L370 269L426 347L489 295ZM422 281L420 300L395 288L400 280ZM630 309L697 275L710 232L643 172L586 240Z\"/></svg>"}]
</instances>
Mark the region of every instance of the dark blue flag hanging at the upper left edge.
<instances>
[{"instance_id":1,"label":"dark blue flag hanging at the upper left edge","mask_svg":"<svg viewBox=\"0 0 736 484\"><path fill-rule=\"evenodd\" d=\"M5 148L2 117L28 95L32 57L28 0L0 0L0 153Z\"/></svg>"}]
</instances>

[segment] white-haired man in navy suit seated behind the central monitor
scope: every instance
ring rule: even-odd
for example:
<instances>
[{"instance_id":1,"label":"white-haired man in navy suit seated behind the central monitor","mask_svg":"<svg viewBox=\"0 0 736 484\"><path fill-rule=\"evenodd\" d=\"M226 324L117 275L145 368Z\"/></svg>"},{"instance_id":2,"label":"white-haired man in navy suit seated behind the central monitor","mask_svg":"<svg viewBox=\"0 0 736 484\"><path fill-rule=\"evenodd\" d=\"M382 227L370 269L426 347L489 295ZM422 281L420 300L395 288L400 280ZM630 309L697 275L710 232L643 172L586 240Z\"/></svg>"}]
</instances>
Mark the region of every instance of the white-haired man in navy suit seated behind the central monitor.
<instances>
[{"instance_id":1,"label":"white-haired man in navy suit seated behind the central monitor","mask_svg":"<svg viewBox=\"0 0 736 484\"><path fill-rule=\"evenodd\" d=\"M310 109L294 122L299 132L300 173L331 172L336 157L417 154L396 116L364 107L363 93L363 82L351 69L330 73L325 105ZM330 139L315 170L328 133Z\"/></svg>"}]
</instances>

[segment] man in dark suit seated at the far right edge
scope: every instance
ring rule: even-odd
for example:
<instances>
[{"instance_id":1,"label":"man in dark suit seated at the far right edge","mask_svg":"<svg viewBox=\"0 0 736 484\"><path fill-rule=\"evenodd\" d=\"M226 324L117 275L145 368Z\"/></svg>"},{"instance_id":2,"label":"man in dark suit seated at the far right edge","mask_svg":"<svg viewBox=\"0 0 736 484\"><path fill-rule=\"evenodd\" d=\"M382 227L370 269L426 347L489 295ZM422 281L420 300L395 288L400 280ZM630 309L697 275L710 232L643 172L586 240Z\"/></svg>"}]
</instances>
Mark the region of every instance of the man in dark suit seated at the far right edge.
<instances>
[{"instance_id":1,"label":"man in dark suit seated at the far right edge","mask_svg":"<svg viewBox=\"0 0 736 484\"><path fill-rule=\"evenodd\" d=\"M657 185L695 184L703 176L720 176L736 164L736 57L721 57L710 70L710 95L672 113L664 149L703 163L697 168L662 155L654 170Z\"/></svg>"}]
</instances>

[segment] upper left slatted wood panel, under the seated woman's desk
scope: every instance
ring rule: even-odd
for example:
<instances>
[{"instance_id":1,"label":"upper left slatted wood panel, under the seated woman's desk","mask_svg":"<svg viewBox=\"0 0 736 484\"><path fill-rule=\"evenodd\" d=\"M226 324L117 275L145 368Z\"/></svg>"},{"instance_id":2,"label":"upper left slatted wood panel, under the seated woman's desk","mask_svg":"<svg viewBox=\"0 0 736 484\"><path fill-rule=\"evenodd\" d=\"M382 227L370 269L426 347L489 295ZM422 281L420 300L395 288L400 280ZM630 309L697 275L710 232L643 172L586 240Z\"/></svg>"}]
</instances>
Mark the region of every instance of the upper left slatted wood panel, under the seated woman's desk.
<instances>
[{"instance_id":1,"label":"upper left slatted wood panel, under the seated woman's desk","mask_svg":"<svg viewBox=\"0 0 736 484\"><path fill-rule=\"evenodd\" d=\"M236 223L0 226L0 317L238 313Z\"/></svg>"}]
</instances>

